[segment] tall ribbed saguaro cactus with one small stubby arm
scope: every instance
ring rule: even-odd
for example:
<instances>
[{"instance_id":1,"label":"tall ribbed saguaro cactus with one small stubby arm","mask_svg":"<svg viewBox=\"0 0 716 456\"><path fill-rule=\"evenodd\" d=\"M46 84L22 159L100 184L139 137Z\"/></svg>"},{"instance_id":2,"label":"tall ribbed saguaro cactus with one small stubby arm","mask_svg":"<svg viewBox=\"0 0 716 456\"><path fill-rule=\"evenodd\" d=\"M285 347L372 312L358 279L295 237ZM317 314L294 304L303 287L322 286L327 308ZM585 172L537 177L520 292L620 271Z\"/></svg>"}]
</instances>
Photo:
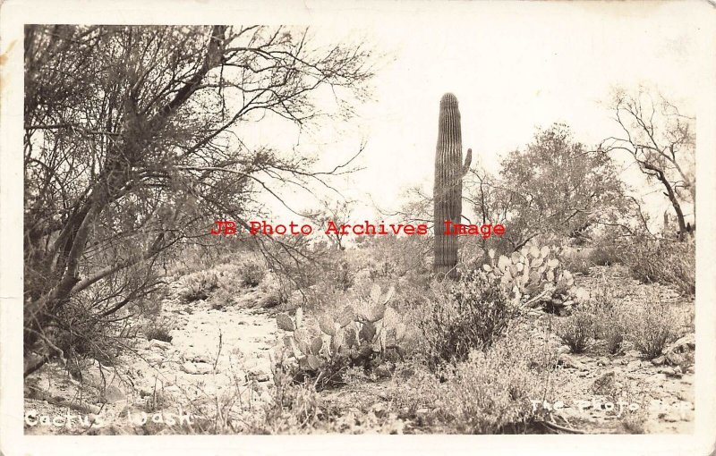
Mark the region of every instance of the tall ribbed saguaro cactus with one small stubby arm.
<instances>
[{"instance_id":1,"label":"tall ribbed saguaro cactus with one small stubby arm","mask_svg":"<svg viewBox=\"0 0 716 456\"><path fill-rule=\"evenodd\" d=\"M445 221L460 223L463 209L463 177L470 168L472 149L467 149L463 165L463 140L457 98L451 93L440 99L438 147L435 151L433 215L435 222L435 259L433 270L456 277L457 236L445 234Z\"/></svg>"}]
</instances>

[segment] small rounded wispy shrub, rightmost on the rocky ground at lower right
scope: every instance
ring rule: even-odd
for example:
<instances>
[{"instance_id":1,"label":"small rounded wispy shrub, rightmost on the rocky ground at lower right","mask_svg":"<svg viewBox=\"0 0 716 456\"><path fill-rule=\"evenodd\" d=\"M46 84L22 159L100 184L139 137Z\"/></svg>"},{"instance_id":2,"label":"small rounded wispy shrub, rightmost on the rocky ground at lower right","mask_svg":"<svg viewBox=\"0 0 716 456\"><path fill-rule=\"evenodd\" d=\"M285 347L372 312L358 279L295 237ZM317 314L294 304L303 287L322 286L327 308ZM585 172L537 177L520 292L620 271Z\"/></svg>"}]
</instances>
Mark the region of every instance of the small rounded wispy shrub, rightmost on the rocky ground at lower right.
<instances>
[{"instance_id":1,"label":"small rounded wispy shrub, rightmost on the rocky ground at lower right","mask_svg":"<svg viewBox=\"0 0 716 456\"><path fill-rule=\"evenodd\" d=\"M678 318L668 303L647 302L626 315L627 337L644 355L654 359L678 336Z\"/></svg>"}]
</instances>

